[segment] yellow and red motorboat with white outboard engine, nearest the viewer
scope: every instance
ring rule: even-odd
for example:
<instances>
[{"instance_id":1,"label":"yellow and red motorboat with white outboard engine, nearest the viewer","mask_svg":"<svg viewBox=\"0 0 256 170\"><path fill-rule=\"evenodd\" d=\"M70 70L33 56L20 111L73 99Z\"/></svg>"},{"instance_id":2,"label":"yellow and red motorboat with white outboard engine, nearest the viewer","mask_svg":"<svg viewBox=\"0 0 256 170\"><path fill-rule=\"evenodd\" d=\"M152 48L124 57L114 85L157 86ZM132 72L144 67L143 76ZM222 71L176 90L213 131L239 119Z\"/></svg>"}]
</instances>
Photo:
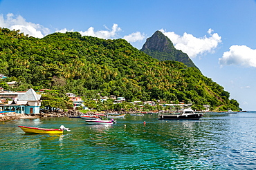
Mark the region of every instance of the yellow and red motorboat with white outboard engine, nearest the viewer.
<instances>
[{"instance_id":1,"label":"yellow and red motorboat with white outboard engine, nearest the viewer","mask_svg":"<svg viewBox=\"0 0 256 170\"><path fill-rule=\"evenodd\" d=\"M63 125L60 126L60 129L46 129L46 128L39 128L39 127L25 127L25 126L18 126L20 127L25 133L28 134L63 134L63 131L71 131L69 128L64 127Z\"/></svg>"}]
</instances>

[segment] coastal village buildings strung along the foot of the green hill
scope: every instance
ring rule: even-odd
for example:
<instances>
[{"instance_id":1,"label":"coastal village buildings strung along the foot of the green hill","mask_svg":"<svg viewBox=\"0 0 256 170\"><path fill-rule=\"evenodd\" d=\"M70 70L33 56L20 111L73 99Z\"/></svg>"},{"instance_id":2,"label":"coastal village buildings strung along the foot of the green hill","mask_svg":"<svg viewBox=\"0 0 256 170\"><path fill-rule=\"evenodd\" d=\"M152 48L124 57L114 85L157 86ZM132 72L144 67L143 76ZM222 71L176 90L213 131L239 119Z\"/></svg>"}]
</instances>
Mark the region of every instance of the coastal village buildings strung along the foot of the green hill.
<instances>
[{"instance_id":1,"label":"coastal village buildings strung along the foot of the green hill","mask_svg":"<svg viewBox=\"0 0 256 170\"><path fill-rule=\"evenodd\" d=\"M6 78L3 74L0 74L0 78ZM12 89L15 88L15 81L7 83ZM6 120L13 120L17 118L41 118L41 117L63 117L63 116L77 116L82 114L79 110L86 110L89 113L94 113L94 109L89 109L86 105L84 105L84 100L82 97L76 96L73 93L66 93L68 96L69 101L72 103L73 107L64 110L59 108L54 108L51 111L45 111L47 108L42 108L42 94L46 91L51 91L51 89L39 89L39 91L35 92L34 89L28 89L26 92L11 92L10 90L5 91L2 87L0 87L0 121ZM104 102L107 100L113 101L113 104L119 104L126 102L124 97L119 96L100 96L99 99L91 99L91 100L98 100L98 102ZM170 107L180 107L183 108L185 103L178 103L178 104L167 104L167 103L160 103L160 100L155 101L134 101L130 102L131 105L136 105L136 110L128 111L131 112L145 112L145 105L150 105L152 107L156 105L161 105L163 110L168 110ZM204 105L205 109L209 109L209 105ZM151 111L151 110L150 110ZM125 112L125 110L124 110ZM127 113L127 111L125 112ZM104 114L107 114L104 111Z\"/></svg>"}]
</instances>

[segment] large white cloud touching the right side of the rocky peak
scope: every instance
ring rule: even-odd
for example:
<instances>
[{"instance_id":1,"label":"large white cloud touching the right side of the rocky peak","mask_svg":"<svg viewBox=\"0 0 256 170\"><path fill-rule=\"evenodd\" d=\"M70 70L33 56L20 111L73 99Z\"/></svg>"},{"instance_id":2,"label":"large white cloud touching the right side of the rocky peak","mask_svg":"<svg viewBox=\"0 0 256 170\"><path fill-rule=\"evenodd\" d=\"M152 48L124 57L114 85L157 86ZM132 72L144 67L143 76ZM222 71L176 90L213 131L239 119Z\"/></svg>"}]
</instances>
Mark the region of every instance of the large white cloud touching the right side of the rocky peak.
<instances>
[{"instance_id":1,"label":"large white cloud touching the right side of the rocky peak","mask_svg":"<svg viewBox=\"0 0 256 170\"><path fill-rule=\"evenodd\" d=\"M208 30L210 37L205 35L202 38L196 38L186 32L180 36L175 32L165 32L163 29L160 31L172 41L176 49L187 53L191 58L209 52L214 53L214 49L221 43L221 36L217 33L212 34L211 28Z\"/></svg>"}]
</instances>

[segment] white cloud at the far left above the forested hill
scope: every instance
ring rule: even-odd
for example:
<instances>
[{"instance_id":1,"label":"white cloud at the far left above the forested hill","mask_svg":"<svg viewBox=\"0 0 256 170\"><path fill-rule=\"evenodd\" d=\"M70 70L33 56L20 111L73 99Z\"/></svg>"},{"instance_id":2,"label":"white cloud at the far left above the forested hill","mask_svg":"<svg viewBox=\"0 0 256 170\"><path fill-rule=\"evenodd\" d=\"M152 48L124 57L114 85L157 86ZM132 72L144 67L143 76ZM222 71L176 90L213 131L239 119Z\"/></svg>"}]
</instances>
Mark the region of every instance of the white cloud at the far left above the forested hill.
<instances>
[{"instance_id":1,"label":"white cloud at the far left above the forested hill","mask_svg":"<svg viewBox=\"0 0 256 170\"><path fill-rule=\"evenodd\" d=\"M27 22L20 15L15 16L11 13L7 14L6 18L3 17L3 14L0 14L0 27L9 28L10 30L20 30L20 32L24 32L24 34L29 34L37 38L42 38L50 33L48 28L44 28L42 25L36 23Z\"/></svg>"}]
</instances>

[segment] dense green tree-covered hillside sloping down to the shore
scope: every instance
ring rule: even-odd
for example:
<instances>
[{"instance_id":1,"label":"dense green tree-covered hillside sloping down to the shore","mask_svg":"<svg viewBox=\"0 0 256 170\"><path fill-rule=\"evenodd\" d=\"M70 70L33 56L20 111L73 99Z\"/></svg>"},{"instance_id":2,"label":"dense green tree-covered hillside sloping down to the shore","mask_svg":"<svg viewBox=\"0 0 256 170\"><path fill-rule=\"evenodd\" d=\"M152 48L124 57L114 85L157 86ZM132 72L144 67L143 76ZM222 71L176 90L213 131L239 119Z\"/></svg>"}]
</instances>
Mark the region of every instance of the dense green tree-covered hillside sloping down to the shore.
<instances>
[{"instance_id":1,"label":"dense green tree-covered hillside sloping down to the shore","mask_svg":"<svg viewBox=\"0 0 256 170\"><path fill-rule=\"evenodd\" d=\"M48 88L84 98L100 93L128 101L161 99L239 109L223 87L196 67L158 61L123 39L104 40L78 32L37 39L1 28L0 56L0 73L8 76L0 82L5 89L6 82L17 81L17 91Z\"/></svg>"}]
</instances>

